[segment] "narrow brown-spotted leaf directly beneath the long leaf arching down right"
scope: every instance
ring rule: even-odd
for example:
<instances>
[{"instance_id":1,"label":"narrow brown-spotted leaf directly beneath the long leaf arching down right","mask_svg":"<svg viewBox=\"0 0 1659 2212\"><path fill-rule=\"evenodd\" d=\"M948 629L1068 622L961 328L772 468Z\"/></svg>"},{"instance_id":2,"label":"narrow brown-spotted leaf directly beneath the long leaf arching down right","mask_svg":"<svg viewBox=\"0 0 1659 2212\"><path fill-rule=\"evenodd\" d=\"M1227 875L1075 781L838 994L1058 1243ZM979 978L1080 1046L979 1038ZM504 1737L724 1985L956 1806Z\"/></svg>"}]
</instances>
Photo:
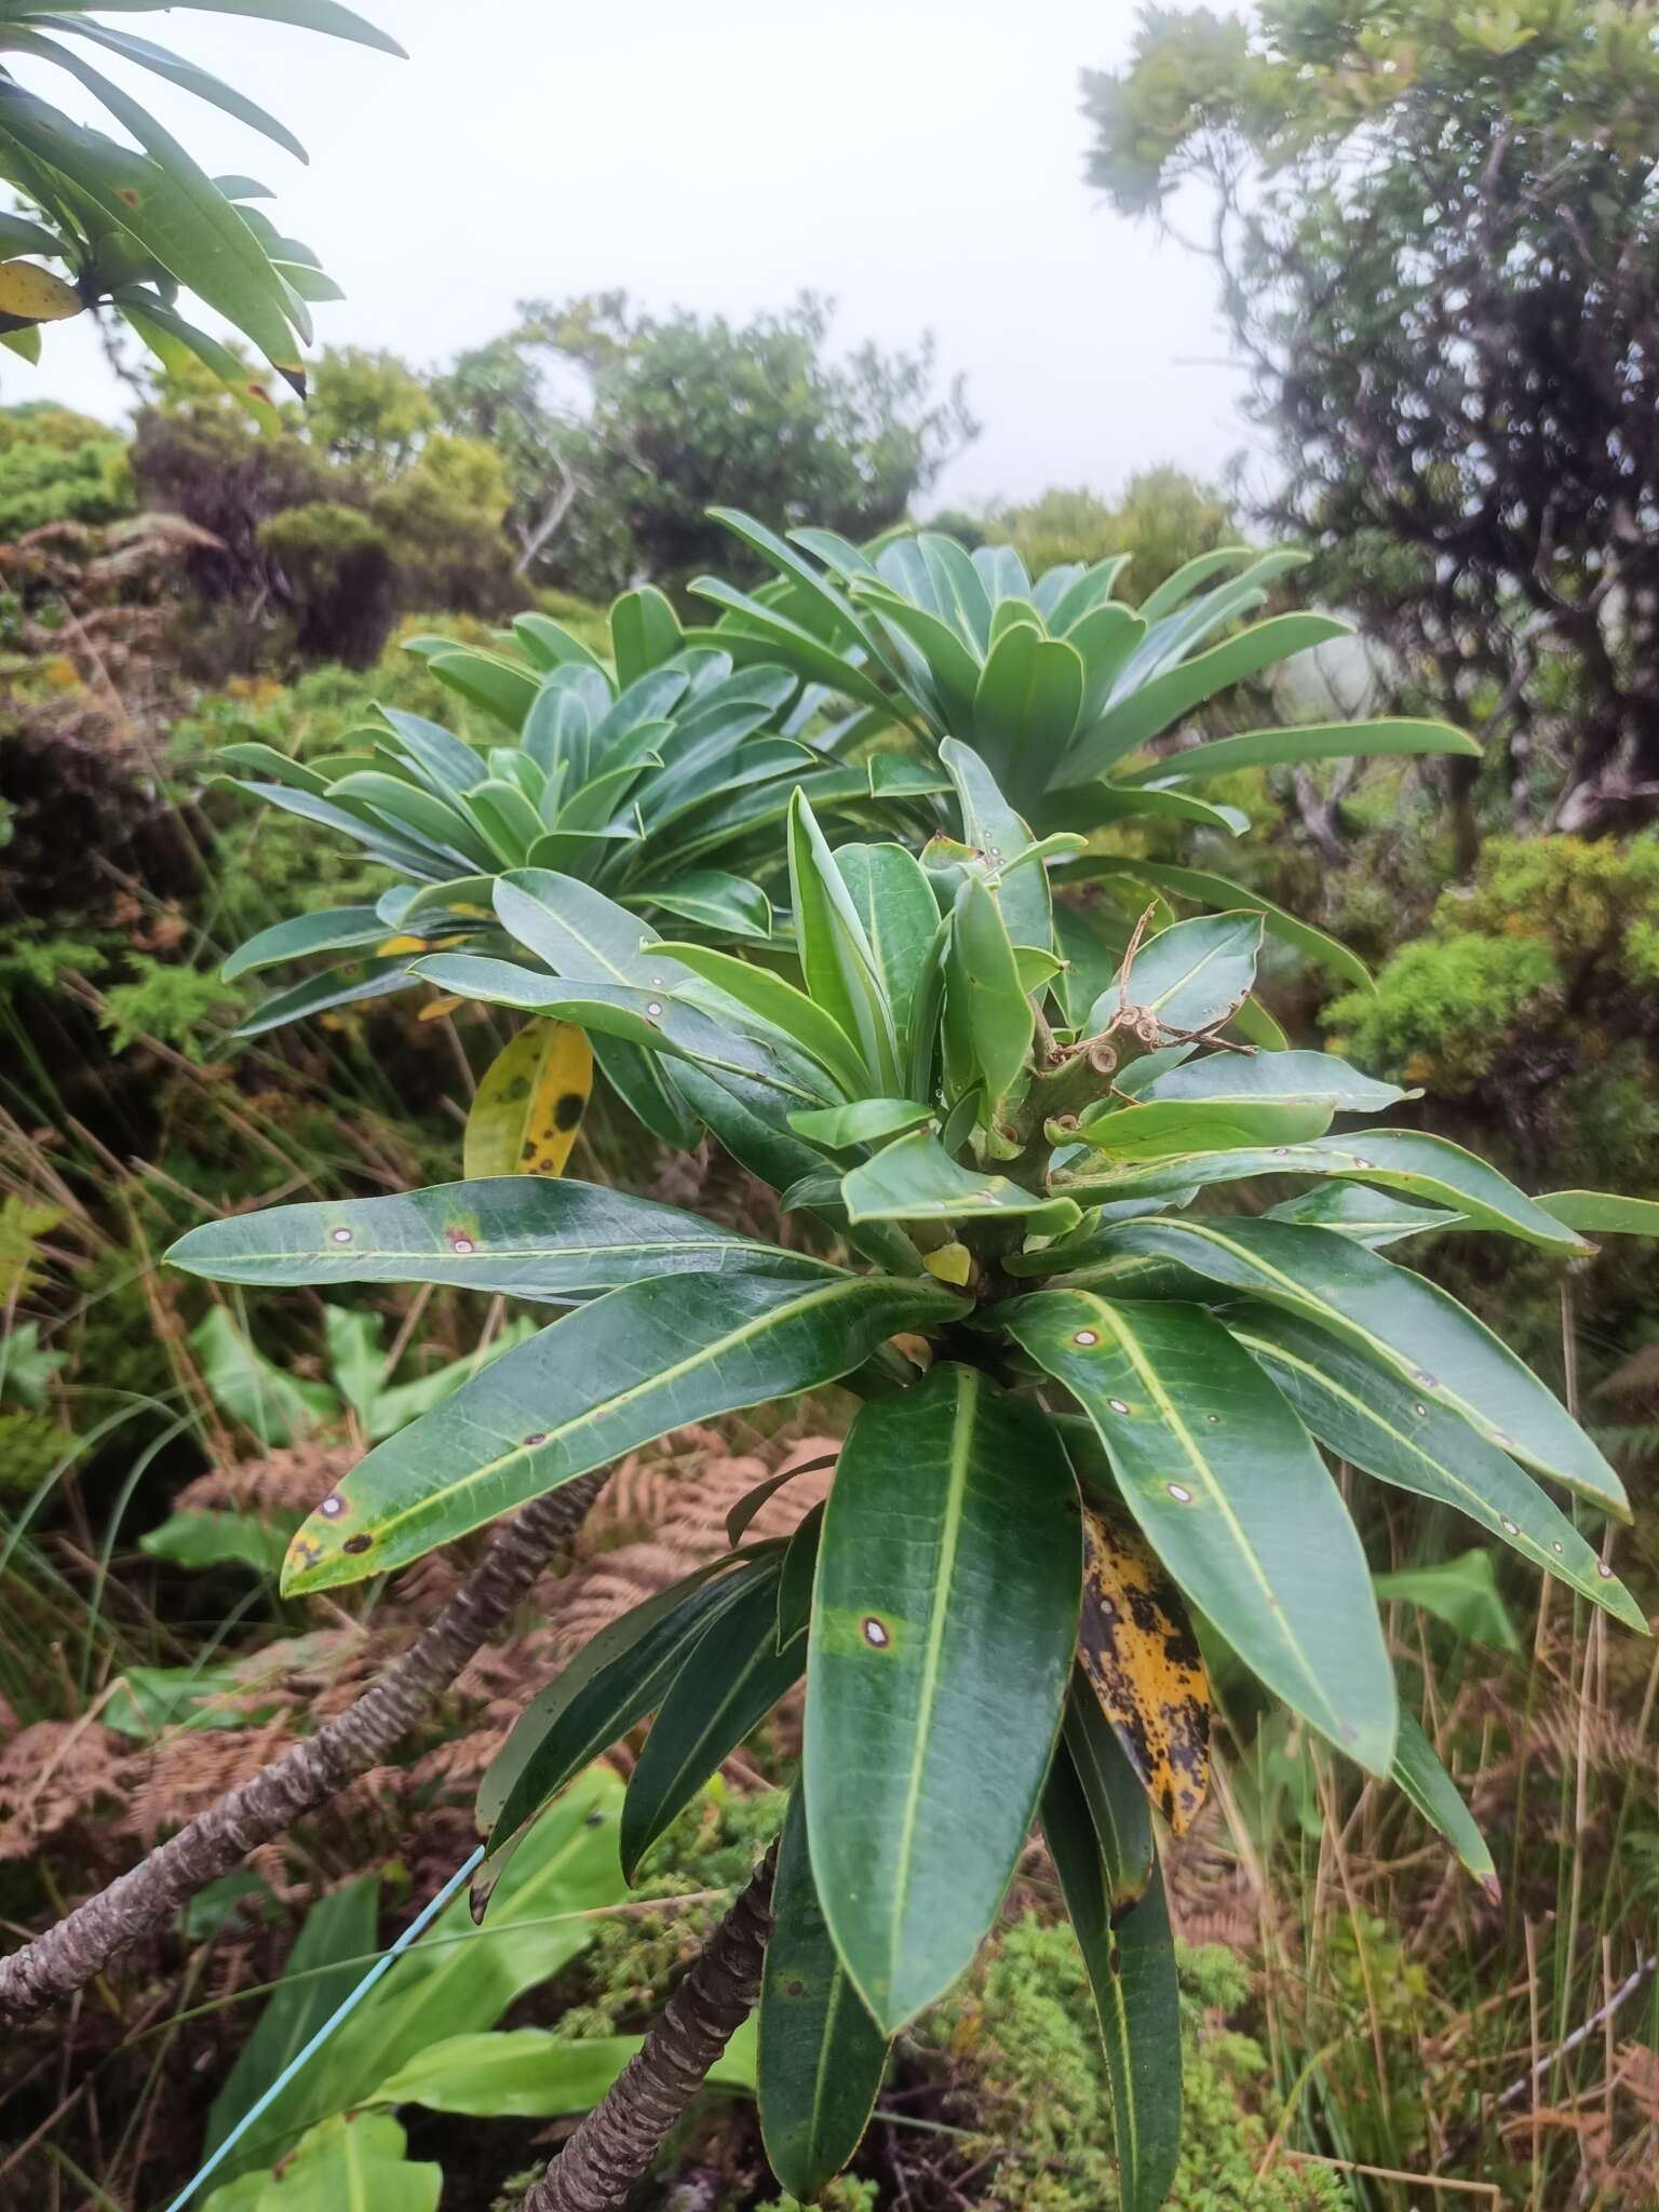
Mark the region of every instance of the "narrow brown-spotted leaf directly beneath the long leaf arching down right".
<instances>
[{"instance_id":1,"label":"narrow brown-spotted leaf directly beneath the long leaf arching down right","mask_svg":"<svg viewBox=\"0 0 1659 2212\"><path fill-rule=\"evenodd\" d=\"M1533 1566L1646 1630L1641 1608L1566 1513L1469 1422L1294 1314L1252 1303L1228 1307L1223 1318L1336 1458L1467 1513Z\"/></svg>"}]
</instances>

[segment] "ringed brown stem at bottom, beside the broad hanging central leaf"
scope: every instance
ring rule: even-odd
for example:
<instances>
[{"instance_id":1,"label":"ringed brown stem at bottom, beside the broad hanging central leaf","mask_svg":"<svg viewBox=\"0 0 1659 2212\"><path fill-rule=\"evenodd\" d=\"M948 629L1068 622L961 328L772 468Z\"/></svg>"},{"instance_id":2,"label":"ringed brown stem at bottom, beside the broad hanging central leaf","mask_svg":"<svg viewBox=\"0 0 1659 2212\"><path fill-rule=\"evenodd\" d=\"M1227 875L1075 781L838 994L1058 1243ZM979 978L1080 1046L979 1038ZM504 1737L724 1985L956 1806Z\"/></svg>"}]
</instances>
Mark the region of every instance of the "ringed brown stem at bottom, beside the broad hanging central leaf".
<instances>
[{"instance_id":1,"label":"ringed brown stem at bottom, beside the broad hanging central leaf","mask_svg":"<svg viewBox=\"0 0 1659 2212\"><path fill-rule=\"evenodd\" d=\"M529 2192L522 2212L615 2212L650 2170L668 2130L761 1995L776 1858L774 1843L644 2046Z\"/></svg>"}]
</instances>

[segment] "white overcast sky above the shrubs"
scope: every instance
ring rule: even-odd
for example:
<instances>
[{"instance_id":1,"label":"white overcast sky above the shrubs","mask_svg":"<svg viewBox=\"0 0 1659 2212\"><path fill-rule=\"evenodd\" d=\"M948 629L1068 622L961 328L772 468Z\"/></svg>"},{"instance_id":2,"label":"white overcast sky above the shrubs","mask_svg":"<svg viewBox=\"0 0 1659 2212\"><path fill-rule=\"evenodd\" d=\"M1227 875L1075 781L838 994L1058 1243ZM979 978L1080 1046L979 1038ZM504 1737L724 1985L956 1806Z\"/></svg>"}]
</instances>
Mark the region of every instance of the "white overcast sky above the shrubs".
<instances>
[{"instance_id":1,"label":"white overcast sky above the shrubs","mask_svg":"<svg viewBox=\"0 0 1659 2212\"><path fill-rule=\"evenodd\" d=\"M838 345L931 330L967 376L984 431L936 500L1113 491L1157 460L1214 473L1248 445L1208 268L1084 184L1077 71L1126 53L1133 0L358 4L407 62L186 9L122 18L307 144L301 168L144 82L210 170L276 190L345 288L319 310L327 343L425 365L515 299L624 285L743 316L812 288L838 301ZM91 119L58 73L18 75ZM38 372L0 358L9 400L122 409L80 325L46 332Z\"/></svg>"}]
</instances>

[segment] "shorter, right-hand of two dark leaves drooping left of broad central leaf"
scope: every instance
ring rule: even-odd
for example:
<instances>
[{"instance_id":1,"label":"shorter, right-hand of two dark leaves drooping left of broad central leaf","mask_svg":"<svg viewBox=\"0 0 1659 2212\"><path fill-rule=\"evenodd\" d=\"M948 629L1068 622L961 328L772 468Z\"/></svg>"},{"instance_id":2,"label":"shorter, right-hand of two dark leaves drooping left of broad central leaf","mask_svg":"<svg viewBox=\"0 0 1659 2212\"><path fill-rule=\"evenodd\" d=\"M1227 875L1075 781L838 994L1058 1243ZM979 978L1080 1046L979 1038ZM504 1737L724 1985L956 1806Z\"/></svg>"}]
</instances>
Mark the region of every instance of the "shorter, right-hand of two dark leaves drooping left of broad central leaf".
<instances>
[{"instance_id":1,"label":"shorter, right-hand of two dark leaves drooping left of broad central leaf","mask_svg":"<svg viewBox=\"0 0 1659 2212\"><path fill-rule=\"evenodd\" d=\"M796 1637L779 1650L776 1628L776 1573L750 1575L686 1655L628 1778L622 1807L628 1882L639 1878L639 1860L721 1761L801 1679L805 1646Z\"/></svg>"}]
</instances>

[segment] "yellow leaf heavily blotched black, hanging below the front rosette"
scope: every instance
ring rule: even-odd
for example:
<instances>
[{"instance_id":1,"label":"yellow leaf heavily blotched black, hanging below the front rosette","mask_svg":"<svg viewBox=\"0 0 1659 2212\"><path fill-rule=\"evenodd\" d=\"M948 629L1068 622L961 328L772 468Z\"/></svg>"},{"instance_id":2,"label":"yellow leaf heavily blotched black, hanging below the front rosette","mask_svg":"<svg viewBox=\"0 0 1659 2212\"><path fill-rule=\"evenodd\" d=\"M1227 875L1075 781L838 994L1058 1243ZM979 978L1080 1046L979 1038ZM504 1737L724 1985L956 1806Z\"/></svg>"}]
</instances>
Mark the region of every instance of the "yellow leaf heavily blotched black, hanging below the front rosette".
<instances>
[{"instance_id":1,"label":"yellow leaf heavily blotched black, hanging below the front rosette","mask_svg":"<svg viewBox=\"0 0 1659 2212\"><path fill-rule=\"evenodd\" d=\"M1152 1546L1093 1504L1084 1511L1077 1657L1146 1794L1183 1836L1210 1790L1210 1677Z\"/></svg>"}]
</instances>

